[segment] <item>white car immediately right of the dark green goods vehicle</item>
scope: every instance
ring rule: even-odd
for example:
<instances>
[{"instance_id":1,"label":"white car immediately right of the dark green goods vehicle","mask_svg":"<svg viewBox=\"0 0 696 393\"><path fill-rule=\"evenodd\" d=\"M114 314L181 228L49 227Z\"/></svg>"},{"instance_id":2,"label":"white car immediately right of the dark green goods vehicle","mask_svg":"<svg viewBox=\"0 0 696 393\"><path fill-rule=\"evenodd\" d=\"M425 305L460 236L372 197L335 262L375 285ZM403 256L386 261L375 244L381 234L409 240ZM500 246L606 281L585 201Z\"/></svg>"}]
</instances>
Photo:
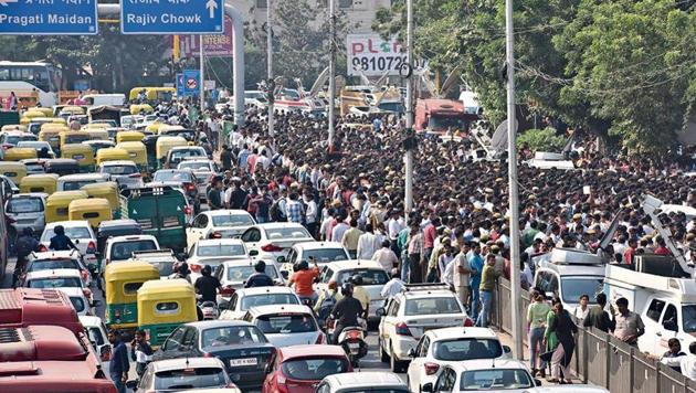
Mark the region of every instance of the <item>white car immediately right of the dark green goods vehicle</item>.
<instances>
[{"instance_id":1,"label":"white car immediately right of the dark green goods vehicle","mask_svg":"<svg viewBox=\"0 0 696 393\"><path fill-rule=\"evenodd\" d=\"M190 248L199 238L239 237L256 224L245 210L213 210L198 214L186 229L186 242Z\"/></svg>"}]
</instances>

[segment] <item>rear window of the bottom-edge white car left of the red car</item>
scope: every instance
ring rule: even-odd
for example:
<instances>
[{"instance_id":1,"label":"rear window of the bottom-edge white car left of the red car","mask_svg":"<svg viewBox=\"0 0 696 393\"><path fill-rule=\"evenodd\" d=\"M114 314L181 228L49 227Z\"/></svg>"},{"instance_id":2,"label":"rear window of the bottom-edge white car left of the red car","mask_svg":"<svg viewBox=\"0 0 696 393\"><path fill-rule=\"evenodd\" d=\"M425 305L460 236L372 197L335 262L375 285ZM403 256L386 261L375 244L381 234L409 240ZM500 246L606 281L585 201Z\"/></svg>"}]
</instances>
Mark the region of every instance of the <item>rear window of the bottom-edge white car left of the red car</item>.
<instances>
[{"instance_id":1,"label":"rear window of the bottom-edge white car left of the red car","mask_svg":"<svg viewBox=\"0 0 696 393\"><path fill-rule=\"evenodd\" d=\"M160 371L155 374L156 391L200 387L223 387L228 384L225 372L220 368L200 368Z\"/></svg>"}]
</instances>

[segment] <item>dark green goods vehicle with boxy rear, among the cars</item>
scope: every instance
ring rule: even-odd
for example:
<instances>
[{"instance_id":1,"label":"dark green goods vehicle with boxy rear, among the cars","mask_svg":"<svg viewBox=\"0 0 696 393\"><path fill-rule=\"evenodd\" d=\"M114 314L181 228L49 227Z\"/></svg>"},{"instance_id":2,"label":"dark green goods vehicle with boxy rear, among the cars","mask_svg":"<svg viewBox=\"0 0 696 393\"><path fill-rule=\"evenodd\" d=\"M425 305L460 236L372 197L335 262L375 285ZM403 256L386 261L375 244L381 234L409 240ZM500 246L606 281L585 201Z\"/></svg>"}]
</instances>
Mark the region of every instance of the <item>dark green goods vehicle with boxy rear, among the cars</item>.
<instances>
[{"instance_id":1,"label":"dark green goods vehicle with boxy rear, among the cars","mask_svg":"<svg viewBox=\"0 0 696 393\"><path fill-rule=\"evenodd\" d=\"M120 193L122 219L135 220L160 247L186 248L186 226L192 214L183 191L169 185L126 189Z\"/></svg>"}]
</instances>

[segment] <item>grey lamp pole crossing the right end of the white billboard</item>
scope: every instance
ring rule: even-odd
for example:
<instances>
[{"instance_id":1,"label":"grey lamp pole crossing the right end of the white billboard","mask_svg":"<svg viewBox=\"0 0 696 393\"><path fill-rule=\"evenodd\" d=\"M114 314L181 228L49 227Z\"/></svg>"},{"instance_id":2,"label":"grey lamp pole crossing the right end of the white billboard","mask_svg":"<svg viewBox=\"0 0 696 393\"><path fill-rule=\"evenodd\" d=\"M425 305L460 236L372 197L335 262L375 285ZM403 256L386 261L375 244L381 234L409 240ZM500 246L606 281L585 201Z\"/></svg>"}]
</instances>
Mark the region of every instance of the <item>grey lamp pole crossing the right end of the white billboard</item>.
<instances>
[{"instance_id":1,"label":"grey lamp pole crossing the right end of the white billboard","mask_svg":"<svg viewBox=\"0 0 696 393\"><path fill-rule=\"evenodd\" d=\"M407 0L407 63L413 66L413 0ZM407 78L407 97L405 97L405 137L413 137L413 70ZM413 140L413 139L411 139ZM409 213L413 210L413 146L405 146L405 214L404 219L409 220Z\"/></svg>"}]
</instances>

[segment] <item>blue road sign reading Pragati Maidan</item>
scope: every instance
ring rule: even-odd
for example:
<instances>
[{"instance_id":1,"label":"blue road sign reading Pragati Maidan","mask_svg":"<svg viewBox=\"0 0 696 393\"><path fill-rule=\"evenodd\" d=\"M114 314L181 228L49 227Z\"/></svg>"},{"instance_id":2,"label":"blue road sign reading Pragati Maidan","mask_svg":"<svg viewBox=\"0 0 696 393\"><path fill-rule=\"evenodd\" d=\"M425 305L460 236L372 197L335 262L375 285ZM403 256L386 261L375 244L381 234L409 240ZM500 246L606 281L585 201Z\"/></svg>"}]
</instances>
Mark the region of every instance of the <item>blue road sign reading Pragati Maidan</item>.
<instances>
[{"instance_id":1,"label":"blue road sign reading Pragati Maidan","mask_svg":"<svg viewBox=\"0 0 696 393\"><path fill-rule=\"evenodd\" d=\"M97 0L0 0L0 34L96 34Z\"/></svg>"}]
</instances>

